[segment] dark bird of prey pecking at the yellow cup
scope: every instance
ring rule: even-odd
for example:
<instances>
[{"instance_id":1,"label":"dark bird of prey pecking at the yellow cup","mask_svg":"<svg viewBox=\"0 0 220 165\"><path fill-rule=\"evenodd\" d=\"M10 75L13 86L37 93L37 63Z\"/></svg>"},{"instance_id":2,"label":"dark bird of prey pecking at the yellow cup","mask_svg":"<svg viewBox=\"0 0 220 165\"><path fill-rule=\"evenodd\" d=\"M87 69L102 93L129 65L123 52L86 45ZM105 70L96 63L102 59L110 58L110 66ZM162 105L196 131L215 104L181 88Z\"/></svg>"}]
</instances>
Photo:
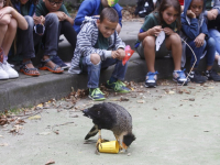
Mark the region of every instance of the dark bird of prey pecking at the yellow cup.
<instances>
[{"instance_id":1,"label":"dark bird of prey pecking at the yellow cup","mask_svg":"<svg viewBox=\"0 0 220 165\"><path fill-rule=\"evenodd\" d=\"M97 147L99 144L101 145L102 142L101 129L111 130L113 132L121 150L127 150L135 140L132 133L132 117L123 107L112 102L102 102L94 105L82 112L84 116L92 119L95 124L85 140L95 136L99 132Z\"/></svg>"}]
</instances>

